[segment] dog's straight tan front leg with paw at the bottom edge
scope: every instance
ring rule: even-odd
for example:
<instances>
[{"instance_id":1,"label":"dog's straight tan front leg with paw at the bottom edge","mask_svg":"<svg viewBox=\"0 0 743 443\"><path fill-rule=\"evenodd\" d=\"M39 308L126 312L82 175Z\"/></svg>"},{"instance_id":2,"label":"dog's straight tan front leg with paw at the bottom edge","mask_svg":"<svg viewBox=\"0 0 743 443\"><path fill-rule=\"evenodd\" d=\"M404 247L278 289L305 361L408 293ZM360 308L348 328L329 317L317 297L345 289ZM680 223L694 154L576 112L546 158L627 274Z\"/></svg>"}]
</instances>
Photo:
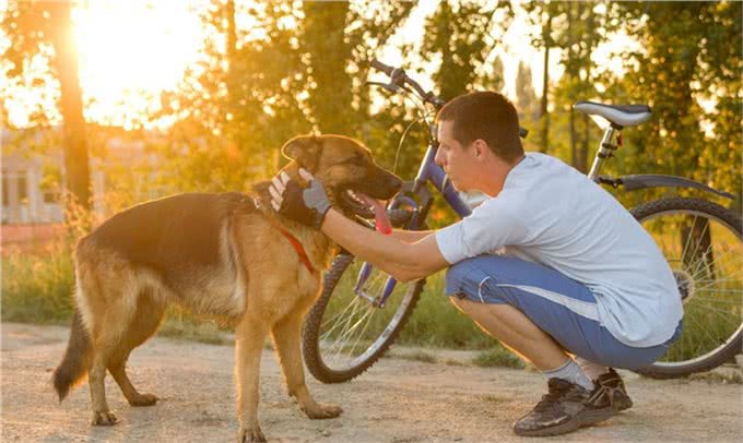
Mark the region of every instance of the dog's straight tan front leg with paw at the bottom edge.
<instances>
[{"instance_id":1,"label":"dog's straight tan front leg with paw at the bottom edge","mask_svg":"<svg viewBox=\"0 0 743 443\"><path fill-rule=\"evenodd\" d=\"M235 328L235 379L240 443L266 441L258 422L258 383L267 332L262 321L252 320L247 314Z\"/></svg>"}]
</instances>

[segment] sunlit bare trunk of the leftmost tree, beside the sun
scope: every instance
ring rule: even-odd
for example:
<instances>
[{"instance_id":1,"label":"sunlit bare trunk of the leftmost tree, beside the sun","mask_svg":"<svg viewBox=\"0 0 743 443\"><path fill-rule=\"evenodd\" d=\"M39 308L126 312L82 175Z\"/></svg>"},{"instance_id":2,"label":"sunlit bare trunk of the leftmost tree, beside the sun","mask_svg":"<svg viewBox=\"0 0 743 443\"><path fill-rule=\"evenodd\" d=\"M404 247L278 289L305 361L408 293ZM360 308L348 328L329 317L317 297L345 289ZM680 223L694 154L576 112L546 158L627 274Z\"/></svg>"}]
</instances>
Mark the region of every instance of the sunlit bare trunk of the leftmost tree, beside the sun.
<instances>
[{"instance_id":1,"label":"sunlit bare trunk of the leftmost tree, beside the sun","mask_svg":"<svg viewBox=\"0 0 743 443\"><path fill-rule=\"evenodd\" d=\"M72 199L68 209L91 209L91 173L85 140L83 99L78 77L78 52L72 35L71 3L50 2L54 23L55 68L60 83L60 110L63 120L66 187ZM71 206L72 205L72 206ZM73 211L69 214L76 214Z\"/></svg>"}]
</instances>

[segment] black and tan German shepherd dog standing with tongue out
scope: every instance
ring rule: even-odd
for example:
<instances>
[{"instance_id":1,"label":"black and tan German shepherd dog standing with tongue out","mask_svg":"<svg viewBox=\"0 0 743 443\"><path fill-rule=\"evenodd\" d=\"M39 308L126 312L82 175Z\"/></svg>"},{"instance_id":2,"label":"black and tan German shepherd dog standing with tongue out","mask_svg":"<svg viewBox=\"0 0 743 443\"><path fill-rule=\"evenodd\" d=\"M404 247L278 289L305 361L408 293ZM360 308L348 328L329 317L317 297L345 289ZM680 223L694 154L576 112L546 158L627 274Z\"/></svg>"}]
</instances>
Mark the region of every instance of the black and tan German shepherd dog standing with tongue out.
<instances>
[{"instance_id":1,"label":"black and tan German shepherd dog standing with tongue out","mask_svg":"<svg viewBox=\"0 0 743 443\"><path fill-rule=\"evenodd\" d=\"M364 207L358 193L390 199L401 180L377 166L367 148L341 135L299 136L282 147L284 168L319 179L347 216ZM335 244L321 231L278 215L268 185L253 193L188 193L126 209L83 237L75 249L75 311L67 351L54 372L60 402L89 378L92 424L111 426L104 378L110 372L131 406L157 402L129 380L129 354L152 336L168 303L235 326L239 441L266 441L258 422L258 383L270 332L288 394L307 417L338 417L305 384L302 324L320 294ZM294 244L293 244L294 243ZM299 247L300 246L300 247Z\"/></svg>"}]
</instances>

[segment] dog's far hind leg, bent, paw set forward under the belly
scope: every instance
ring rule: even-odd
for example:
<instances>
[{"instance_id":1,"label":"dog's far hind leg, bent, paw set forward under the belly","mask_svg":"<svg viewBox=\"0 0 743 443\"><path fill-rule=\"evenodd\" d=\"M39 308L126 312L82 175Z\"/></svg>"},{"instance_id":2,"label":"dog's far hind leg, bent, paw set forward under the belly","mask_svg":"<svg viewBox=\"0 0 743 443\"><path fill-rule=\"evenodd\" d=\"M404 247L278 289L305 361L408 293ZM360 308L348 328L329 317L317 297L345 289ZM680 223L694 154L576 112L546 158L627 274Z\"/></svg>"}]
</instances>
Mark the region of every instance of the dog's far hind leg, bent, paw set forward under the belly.
<instances>
[{"instance_id":1,"label":"dog's far hind leg, bent, paw set forward under the belly","mask_svg":"<svg viewBox=\"0 0 743 443\"><path fill-rule=\"evenodd\" d=\"M108 371L131 406L152 406L157 403L155 395L140 394L137 391L127 375L126 367L131 351L157 331L164 311L165 307L155 301L150 291L142 291L137 300L137 312L125 332L121 346L108 359Z\"/></svg>"}]
</instances>

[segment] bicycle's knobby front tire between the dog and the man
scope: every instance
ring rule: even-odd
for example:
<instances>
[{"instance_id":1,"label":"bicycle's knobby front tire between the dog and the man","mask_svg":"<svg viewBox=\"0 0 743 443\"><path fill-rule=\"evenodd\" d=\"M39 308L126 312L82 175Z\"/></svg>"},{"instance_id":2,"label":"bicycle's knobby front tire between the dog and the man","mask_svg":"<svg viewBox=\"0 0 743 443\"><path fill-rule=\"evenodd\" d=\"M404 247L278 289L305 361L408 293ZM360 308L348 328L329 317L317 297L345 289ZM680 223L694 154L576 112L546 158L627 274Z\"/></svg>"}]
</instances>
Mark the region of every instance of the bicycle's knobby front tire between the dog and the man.
<instances>
[{"instance_id":1,"label":"bicycle's knobby front tire between the dog and the man","mask_svg":"<svg viewBox=\"0 0 743 443\"><path fill-rule=\"evenodd\" d=\"M389 215L393 226L401 226L408 223L412 212L408 209L393 209L389 212ZM339 254L333 259L332 266L323 278L322 294L305 320L303 330L303 354L305 364L312 376L322 383L344 383L351 381L376 363L389 349L400 331L408 323L425 286L425 279L409 284L403 296L404 298L401 300L400 307L397 308L394 315L392 316L392 321L396 323L388 324L381 335L373 342L365 352L362 354L358 359L352 361L353 364L342 369L333 368L329 366L323 358L321 347L321 335L323 333L322 319L339 282L344 273L349 271L349 266L354 259L355 258L351 254ZM398 312L401 309L403 311ZM392 327L388 331L390 325Z\"/></svg>"}]
</instances>

